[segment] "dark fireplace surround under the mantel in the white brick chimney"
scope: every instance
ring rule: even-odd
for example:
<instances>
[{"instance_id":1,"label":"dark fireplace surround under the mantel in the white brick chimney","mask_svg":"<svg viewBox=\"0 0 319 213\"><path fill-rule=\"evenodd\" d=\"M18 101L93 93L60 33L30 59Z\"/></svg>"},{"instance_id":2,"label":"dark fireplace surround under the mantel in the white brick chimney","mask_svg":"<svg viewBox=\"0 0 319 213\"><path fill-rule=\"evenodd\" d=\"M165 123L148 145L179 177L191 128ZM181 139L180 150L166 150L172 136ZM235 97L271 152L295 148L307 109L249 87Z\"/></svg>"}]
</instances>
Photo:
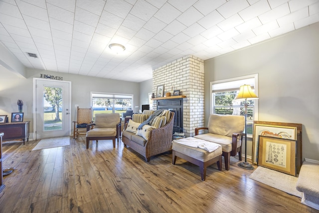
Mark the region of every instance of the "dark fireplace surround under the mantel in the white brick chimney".
<instances>
[{"instance_id":1,"label":"dark fireplace surround under the mantel in the white brick chimney","mask_svg":"<svg viewBox=\"0 0 319 213\"><path fill-rule=\"evenodd\" d=\"M183 132L183 98L169 98L157 100L158 109L168 109L175 113L174 132Z\"/></svg>"}]
</instances>

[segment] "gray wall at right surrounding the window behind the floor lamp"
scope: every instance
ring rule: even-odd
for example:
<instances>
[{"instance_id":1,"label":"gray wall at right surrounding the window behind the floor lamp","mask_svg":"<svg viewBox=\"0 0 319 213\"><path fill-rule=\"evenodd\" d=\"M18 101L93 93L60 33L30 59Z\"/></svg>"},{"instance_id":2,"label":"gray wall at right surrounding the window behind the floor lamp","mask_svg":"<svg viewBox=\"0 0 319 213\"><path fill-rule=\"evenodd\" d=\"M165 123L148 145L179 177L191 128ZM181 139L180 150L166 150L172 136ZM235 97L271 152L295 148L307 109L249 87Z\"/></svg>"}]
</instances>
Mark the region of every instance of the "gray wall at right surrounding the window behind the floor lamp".
<instances>
[{"instance_id":1,"label":"gray wall at right surrounding the window behind the floor lamp","mask_svg":"<svg viewBox=\"0 0 319 213\"><path fill-rule=\"evenodd\" d=\"M205 61L205 124L209 82L259 74L259 120L303 124L303 158L319 160L319 23ZM249 140L247 153L251 156Z\"/></svg>"}]
</instances>

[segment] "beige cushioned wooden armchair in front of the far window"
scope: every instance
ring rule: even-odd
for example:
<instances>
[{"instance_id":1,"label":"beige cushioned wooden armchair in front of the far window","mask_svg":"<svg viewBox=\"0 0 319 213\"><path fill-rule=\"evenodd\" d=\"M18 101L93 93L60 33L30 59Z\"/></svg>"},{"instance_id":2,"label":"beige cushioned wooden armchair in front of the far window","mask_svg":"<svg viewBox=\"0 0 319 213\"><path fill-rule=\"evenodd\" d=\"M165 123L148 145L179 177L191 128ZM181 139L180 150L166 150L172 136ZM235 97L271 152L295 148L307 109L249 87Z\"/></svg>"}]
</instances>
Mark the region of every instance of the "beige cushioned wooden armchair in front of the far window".
<instances>
[{"instance_id":1,"label":"beige cushioned wooden armchair in front of the far window","mask_svg":"<svg viewBox=\"0 0 319 213\"><path fill-rule=\"evenodd\" d=\"M91 126L95 125L94 129ZM115 139L118 139L121 133L121 119L119 113L101 113L95 114L95 123L87 125L86 148L89 148L91 140L113 140L115 148Z\"/></svg>"}]
</instances>

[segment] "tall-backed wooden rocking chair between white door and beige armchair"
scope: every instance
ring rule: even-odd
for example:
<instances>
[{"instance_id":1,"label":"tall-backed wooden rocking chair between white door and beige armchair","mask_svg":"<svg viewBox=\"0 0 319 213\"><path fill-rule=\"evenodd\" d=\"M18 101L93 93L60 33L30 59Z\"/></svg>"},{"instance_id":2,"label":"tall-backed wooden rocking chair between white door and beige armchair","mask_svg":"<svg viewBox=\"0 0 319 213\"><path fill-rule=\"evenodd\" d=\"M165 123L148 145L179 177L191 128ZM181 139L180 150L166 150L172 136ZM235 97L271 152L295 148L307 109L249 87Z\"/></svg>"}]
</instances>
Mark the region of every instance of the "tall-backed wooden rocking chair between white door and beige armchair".
<instances>
[{"instance_id":1,"label":"tall-backed wooden rocking chair between white door and beige armchair","mask_svg":"<svg viewBox=\"0 0 319 213\"><path fill-rule=\"evenodd\" d=\"M76 121L73 121L73 139L86 134L86 125L92 123L92 108L79 108L76 110Z\"/></svg>"}]
</instances>

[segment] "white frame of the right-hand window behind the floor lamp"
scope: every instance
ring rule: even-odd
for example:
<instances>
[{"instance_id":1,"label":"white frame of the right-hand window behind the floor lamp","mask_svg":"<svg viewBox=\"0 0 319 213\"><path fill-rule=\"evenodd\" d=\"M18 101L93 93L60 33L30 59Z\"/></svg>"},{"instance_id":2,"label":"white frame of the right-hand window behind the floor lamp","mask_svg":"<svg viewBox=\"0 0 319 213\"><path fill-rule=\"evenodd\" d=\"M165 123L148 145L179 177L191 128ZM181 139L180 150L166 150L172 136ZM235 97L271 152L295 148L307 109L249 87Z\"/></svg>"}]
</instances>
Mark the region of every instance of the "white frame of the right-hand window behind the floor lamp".
<instances>
[{"instance_id":1,"label":"white frame of the right-hand window behind the floor lamp","mask_svg":"<svg viewBox=\"0 0 319 213\"><path fill-rule=\"evenodd\" d=\"M228 79L223 79L223 80L211 81L209 83L209 89L210 89L209 113L213 114L214 113L214 107L215 107L215 105L213 103L215 101L214 100L213 85L219 84L219 83L232 82L232 81L241 82L242 80L251 79L251 78L254 78L254 81L253 81L254 82L254 92L258 96L258 73L251 74L251 75L240 76L240 77L235 77L235 78L228 78ZM240 85L238 86L238 91L239 91L239 87L240 87ZM229 87L229 90L227 90L227 88L226 88L224 91L232 91L232 89L234 89L234 88L233 87ZM258 117L259 117L258 99L254 100L254 103L255 103L254 107L253 107L254 108L254 121L258 121ZM242 107L244 107L244 105L242 105ZM251 138L252 134L247 134L247 137Z\"/></svg>"}]
</instances>

